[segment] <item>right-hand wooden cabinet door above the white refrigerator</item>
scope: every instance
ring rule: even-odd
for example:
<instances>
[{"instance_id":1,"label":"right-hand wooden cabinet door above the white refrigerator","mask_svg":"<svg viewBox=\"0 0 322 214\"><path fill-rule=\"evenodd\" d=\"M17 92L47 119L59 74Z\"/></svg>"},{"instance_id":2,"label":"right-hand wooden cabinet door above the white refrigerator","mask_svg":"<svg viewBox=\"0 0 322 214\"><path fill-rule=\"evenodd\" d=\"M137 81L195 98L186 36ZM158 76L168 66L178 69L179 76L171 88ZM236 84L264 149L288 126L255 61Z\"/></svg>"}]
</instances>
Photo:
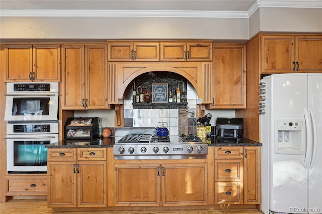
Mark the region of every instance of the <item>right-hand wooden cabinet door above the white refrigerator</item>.
<instances>
[{"instance_id":1,"label":"right-hand wooden cabinet door above the white refrigerator","mask_svg":"<svg viewBox=\"0 0 322 214\"><path fill-rule=\"evenodd\" d=\"M322 35L295 37L296 71L322 72Z\"/></svg>"}]
</instances>

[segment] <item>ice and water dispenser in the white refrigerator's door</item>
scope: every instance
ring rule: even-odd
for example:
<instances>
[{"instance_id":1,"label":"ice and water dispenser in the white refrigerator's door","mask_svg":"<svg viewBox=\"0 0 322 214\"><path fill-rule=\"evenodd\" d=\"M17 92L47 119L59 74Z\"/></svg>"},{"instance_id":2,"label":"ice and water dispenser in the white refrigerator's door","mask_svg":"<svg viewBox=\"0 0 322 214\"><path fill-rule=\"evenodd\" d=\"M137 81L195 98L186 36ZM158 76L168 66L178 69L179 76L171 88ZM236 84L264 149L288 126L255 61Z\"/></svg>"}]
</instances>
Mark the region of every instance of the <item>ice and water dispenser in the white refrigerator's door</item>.
<instances>
[{"instance_id":1,"label":"ice and water dispenser in the white refrigerator's door","mask_svg":"<svg viewBox=\"0 0 322 214\"><path fill-rule=\"evenodd\" d=\"M305 154L305 132L302 119L275 119L275 147L277 154Z\"/></svg>"}]
</instances>

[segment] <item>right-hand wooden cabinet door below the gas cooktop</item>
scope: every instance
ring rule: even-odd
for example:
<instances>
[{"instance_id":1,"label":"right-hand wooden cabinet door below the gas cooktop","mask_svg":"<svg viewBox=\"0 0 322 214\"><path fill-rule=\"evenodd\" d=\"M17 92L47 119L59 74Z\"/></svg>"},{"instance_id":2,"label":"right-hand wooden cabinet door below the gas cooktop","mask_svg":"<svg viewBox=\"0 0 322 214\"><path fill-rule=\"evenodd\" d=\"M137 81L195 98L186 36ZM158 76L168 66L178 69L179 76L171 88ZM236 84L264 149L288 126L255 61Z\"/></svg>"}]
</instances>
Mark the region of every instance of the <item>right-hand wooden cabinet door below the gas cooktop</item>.
<instances>
[{"instance_id":1,"label":"right-hand wooden cabinet door below the gas cooktop","mask_svg":"<svg viewBox=\"0 0 322 214\"><path fill-rule=\"evenodd\" d=\"M207 164L162 164L162 205L207 205Z\"/></svg>"}]
</instances>

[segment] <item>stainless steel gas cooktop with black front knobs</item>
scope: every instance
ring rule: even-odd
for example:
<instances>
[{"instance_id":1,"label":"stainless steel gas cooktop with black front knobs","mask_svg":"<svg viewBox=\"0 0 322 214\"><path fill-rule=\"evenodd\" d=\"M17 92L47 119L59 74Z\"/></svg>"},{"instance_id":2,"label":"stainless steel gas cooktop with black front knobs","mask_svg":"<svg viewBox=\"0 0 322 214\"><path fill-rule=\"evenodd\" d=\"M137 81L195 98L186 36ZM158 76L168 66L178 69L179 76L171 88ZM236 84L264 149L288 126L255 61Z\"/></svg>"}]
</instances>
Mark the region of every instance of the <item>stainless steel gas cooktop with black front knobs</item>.
<instances>
[{"instance_id":1,"label":"stainless steel gas cooktop with black front knobs","mask_svg":"<svg viewBox=\"0 0 322 214\"><path fill-rule=\"evenodd\" d=\"M115 159L206 158L208 145L195 135L126 135L113 146Z\"/></svg>"}]
</instances>

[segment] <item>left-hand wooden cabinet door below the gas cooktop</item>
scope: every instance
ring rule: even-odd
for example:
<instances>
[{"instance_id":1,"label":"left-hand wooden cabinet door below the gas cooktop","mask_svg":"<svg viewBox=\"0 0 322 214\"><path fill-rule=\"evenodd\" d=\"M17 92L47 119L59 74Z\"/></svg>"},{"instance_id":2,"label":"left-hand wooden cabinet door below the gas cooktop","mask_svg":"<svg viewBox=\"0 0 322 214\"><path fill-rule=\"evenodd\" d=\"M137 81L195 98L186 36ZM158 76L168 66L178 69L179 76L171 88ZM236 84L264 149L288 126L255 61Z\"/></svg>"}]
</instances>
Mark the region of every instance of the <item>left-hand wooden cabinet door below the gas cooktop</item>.
<instances>
[{"instance_id":1,"label":"left-hand wooden cabinet door below the gas cooktop","mask_svg":"<svg viewBox=\"0 0 322 214\"><path fill-rule=\"evenodd\" d=\"M159 164L115 164L115 206L159 206Z\"/></svg>"}]
</instances>

